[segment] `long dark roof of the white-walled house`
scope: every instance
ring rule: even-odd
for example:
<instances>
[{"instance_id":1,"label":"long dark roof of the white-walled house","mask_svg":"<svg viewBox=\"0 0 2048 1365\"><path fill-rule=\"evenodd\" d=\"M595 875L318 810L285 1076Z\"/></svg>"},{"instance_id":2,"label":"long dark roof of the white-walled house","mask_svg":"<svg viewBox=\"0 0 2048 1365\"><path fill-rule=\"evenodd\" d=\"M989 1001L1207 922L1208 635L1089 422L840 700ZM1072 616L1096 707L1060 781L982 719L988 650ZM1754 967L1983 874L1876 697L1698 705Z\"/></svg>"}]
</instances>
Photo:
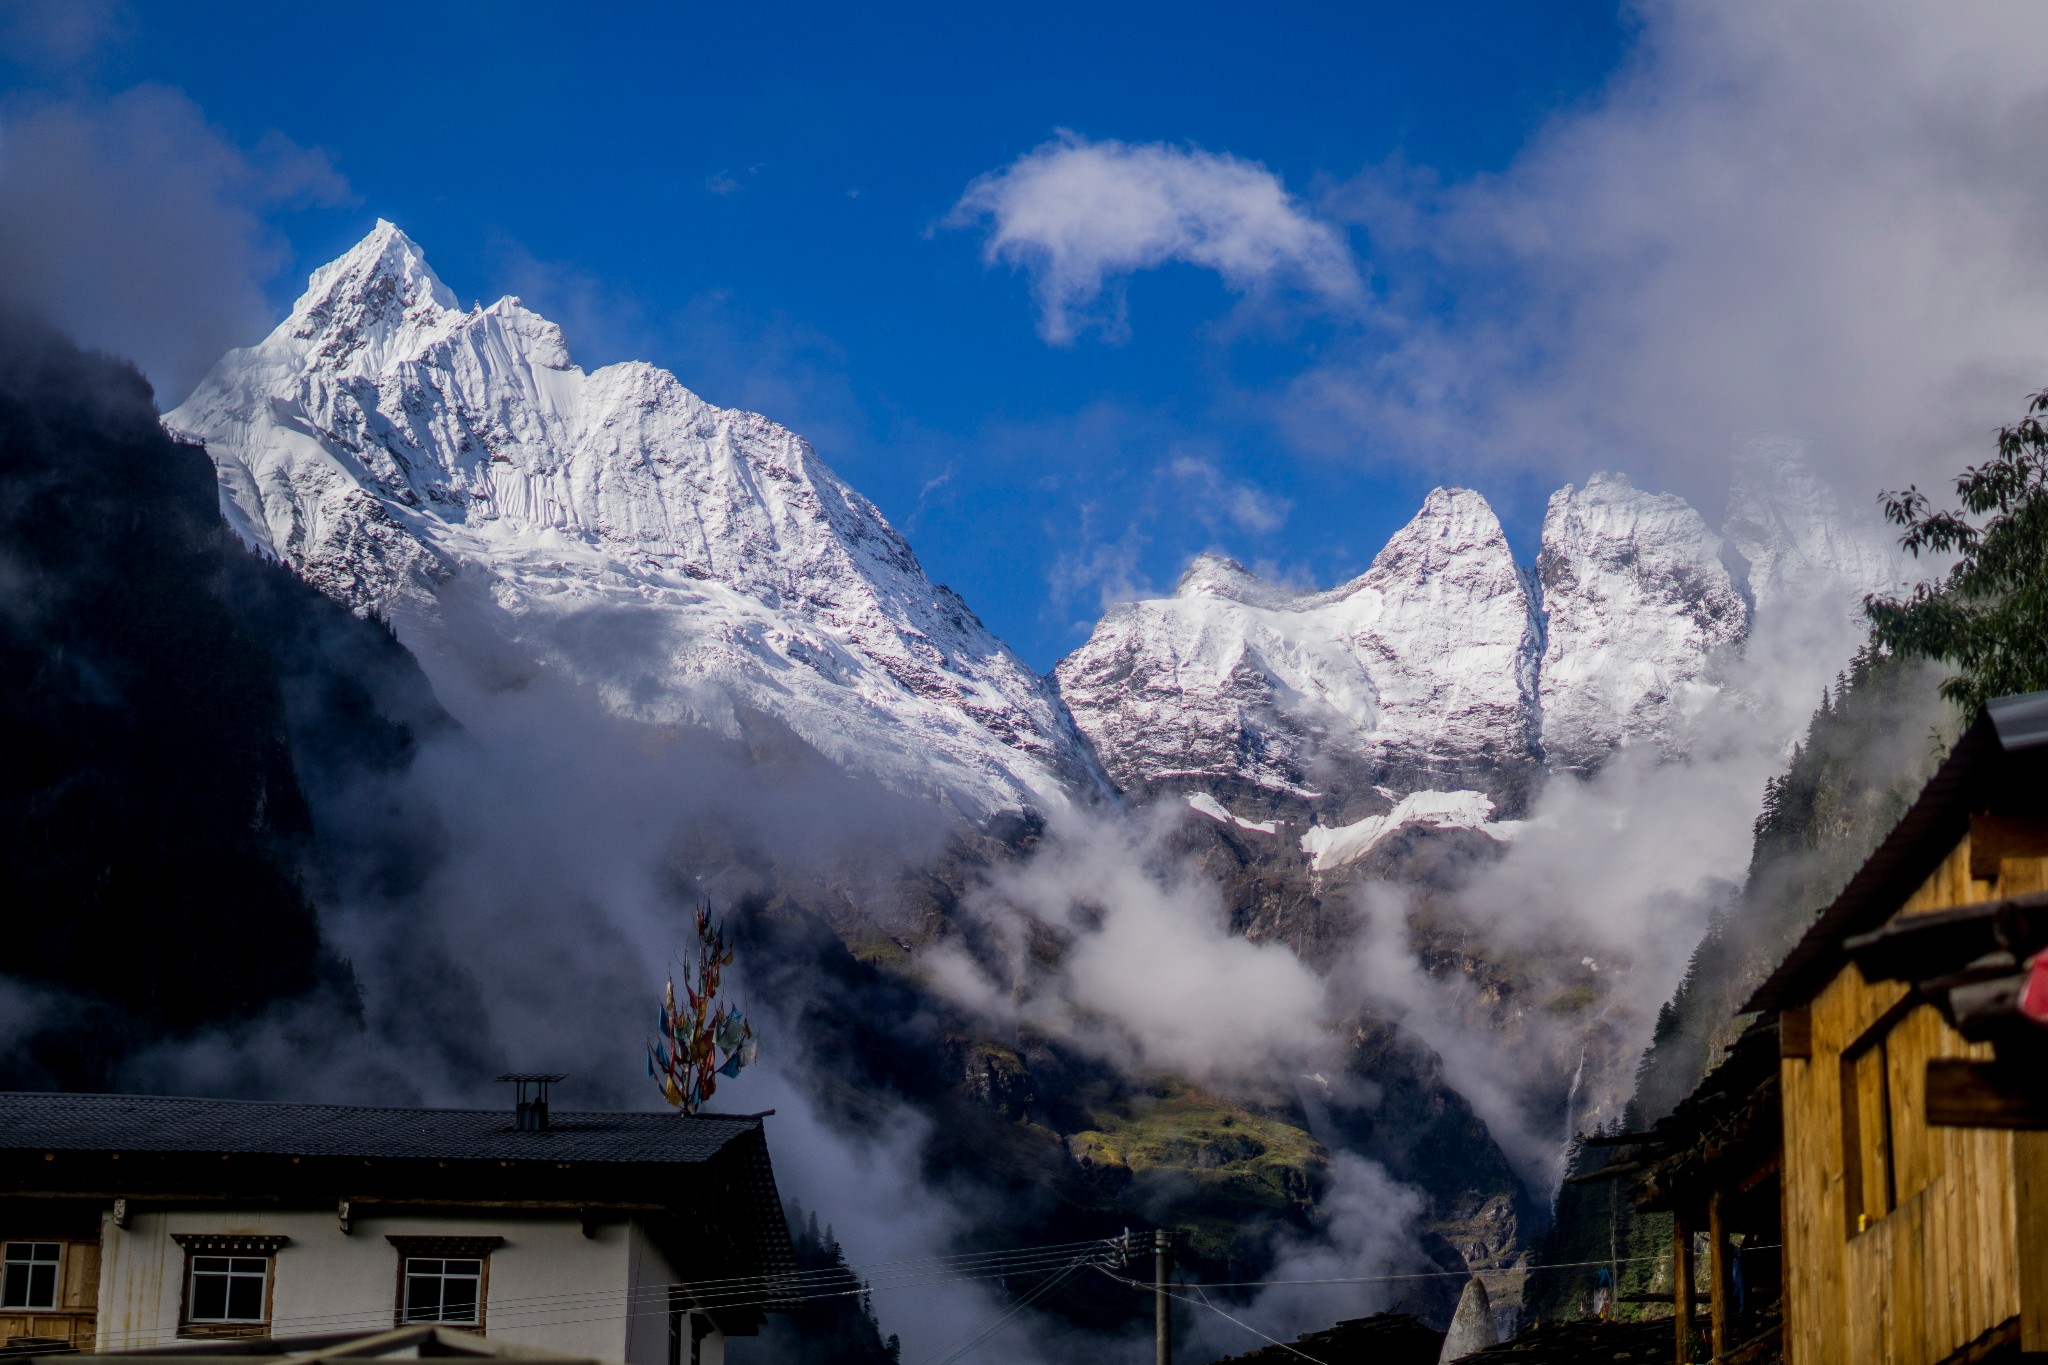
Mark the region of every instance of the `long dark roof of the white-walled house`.
<instances>
[{"instance_id":1,"label":"long dark roof of the white-walled house","mask_svg":"<svg viewBox=\"0 0 2048 1365\"><path fill-rule=\"evenodd\" d=\"M760 1117L555 1113L545 1132L512 1109L371 1109L170 1095L0 1091L0 1150L238 1152L438 1160L700 1162Z\"/></svg>"}]
</instances>

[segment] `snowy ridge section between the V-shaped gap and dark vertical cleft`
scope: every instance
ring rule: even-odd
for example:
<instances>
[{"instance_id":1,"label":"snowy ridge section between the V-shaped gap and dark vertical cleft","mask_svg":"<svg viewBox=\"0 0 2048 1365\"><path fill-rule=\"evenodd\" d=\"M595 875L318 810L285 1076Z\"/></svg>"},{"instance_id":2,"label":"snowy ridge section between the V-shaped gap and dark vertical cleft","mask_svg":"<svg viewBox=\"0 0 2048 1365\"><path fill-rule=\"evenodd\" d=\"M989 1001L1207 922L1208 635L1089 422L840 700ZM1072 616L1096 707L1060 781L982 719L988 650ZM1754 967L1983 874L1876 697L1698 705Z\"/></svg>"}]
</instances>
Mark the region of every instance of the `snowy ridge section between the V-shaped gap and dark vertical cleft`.
<instances>
[{"instance_id":1,"label":"snowy ridge section between the V-shaped gap and dark vertical cleft","mask_svg":"<svg viewBox=\"0 0 2048 1365\"><path fill-rule=\"evenodd\" d=\"M1536 622L1487 501L1438 489L1329 591L1198 557L1061 661L1059 692L1126 788L1233 778L1311 800L1534 769Z\"/></svg>"}]
</instances>

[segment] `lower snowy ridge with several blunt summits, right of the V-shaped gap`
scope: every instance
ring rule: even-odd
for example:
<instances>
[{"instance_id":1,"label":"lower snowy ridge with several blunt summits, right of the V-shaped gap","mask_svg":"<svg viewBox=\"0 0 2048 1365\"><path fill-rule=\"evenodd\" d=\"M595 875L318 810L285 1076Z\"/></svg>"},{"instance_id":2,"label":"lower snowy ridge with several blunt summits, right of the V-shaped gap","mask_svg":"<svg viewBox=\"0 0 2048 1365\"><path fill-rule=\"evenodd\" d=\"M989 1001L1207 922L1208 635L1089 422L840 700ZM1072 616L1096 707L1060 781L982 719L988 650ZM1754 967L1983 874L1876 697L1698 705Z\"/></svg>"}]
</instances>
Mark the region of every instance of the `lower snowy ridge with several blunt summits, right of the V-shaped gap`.
<instances>
[{"instance_id":1,"label":"lower snowy ridge with several blunt summits, right of the V-shaped gap","mask_svg":"<svg viewBox=\"0 0 2048 1365\"><path fill-rule=\"evenodd\" d=\"M1898 581L1796 442L1745 438L1733 471L1724 534L1622 475L1561 489L1534 573L1470 489L1430 493L1327 591L1204 555L1171 598L1112 608L1055 677L1126 790L1247 829L1360 827L1417 792L1468 792L1456 819L1413 819L1511 837L1544 774L1624 745L1686 753L1759 610L1853 610Z\"/></svg>"}]
</instances>

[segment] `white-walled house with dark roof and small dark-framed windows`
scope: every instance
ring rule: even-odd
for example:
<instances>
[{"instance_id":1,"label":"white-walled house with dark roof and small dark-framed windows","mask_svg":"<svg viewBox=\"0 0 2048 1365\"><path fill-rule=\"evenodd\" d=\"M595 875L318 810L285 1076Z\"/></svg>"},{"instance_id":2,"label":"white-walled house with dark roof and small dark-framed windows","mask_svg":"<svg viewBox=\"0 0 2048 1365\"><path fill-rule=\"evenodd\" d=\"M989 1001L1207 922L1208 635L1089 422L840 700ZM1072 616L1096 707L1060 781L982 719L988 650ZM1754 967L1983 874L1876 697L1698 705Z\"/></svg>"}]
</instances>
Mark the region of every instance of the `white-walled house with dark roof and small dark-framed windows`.
<instances>
[{"instance_id":1,"label":"white-walled house with dark roof and small dark-framed windows","mask_svg":"<svg viewBox=\"0 0 2048 1365\"><path fill-rule=\"evenodd\" d=\"M0 1336L406 1324L721 1365L795 1271L762 1115L0 1093Z\"/></svg>"}]
</instances>

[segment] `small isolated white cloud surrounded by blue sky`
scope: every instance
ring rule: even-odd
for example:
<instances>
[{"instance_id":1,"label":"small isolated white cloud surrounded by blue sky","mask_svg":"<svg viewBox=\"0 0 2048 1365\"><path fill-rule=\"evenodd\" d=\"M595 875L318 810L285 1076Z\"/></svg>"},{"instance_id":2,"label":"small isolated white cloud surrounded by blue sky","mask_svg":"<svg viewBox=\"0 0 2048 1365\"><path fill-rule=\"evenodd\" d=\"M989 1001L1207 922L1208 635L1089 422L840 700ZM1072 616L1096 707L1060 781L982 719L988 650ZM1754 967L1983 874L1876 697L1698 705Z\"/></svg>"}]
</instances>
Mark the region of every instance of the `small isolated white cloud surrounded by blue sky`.
<instances>
[{"instance_id":1,"label":"small isolated white cloud surrounded by blue sky","mask_svg":"<svg viewBox=\"0 0 2048 1365\"><path fill-rule=\"evenodd\" d=\"M1038 332L1067 346L1126 332L1122 276L1167 262L1214 270L1237 293L1294 284L1331 303L1362 293L1339 229L1255 162L1073 133L967 186L948 225L989 223L985 258L1028 270Z\"/></svg>"}]
</instances>

